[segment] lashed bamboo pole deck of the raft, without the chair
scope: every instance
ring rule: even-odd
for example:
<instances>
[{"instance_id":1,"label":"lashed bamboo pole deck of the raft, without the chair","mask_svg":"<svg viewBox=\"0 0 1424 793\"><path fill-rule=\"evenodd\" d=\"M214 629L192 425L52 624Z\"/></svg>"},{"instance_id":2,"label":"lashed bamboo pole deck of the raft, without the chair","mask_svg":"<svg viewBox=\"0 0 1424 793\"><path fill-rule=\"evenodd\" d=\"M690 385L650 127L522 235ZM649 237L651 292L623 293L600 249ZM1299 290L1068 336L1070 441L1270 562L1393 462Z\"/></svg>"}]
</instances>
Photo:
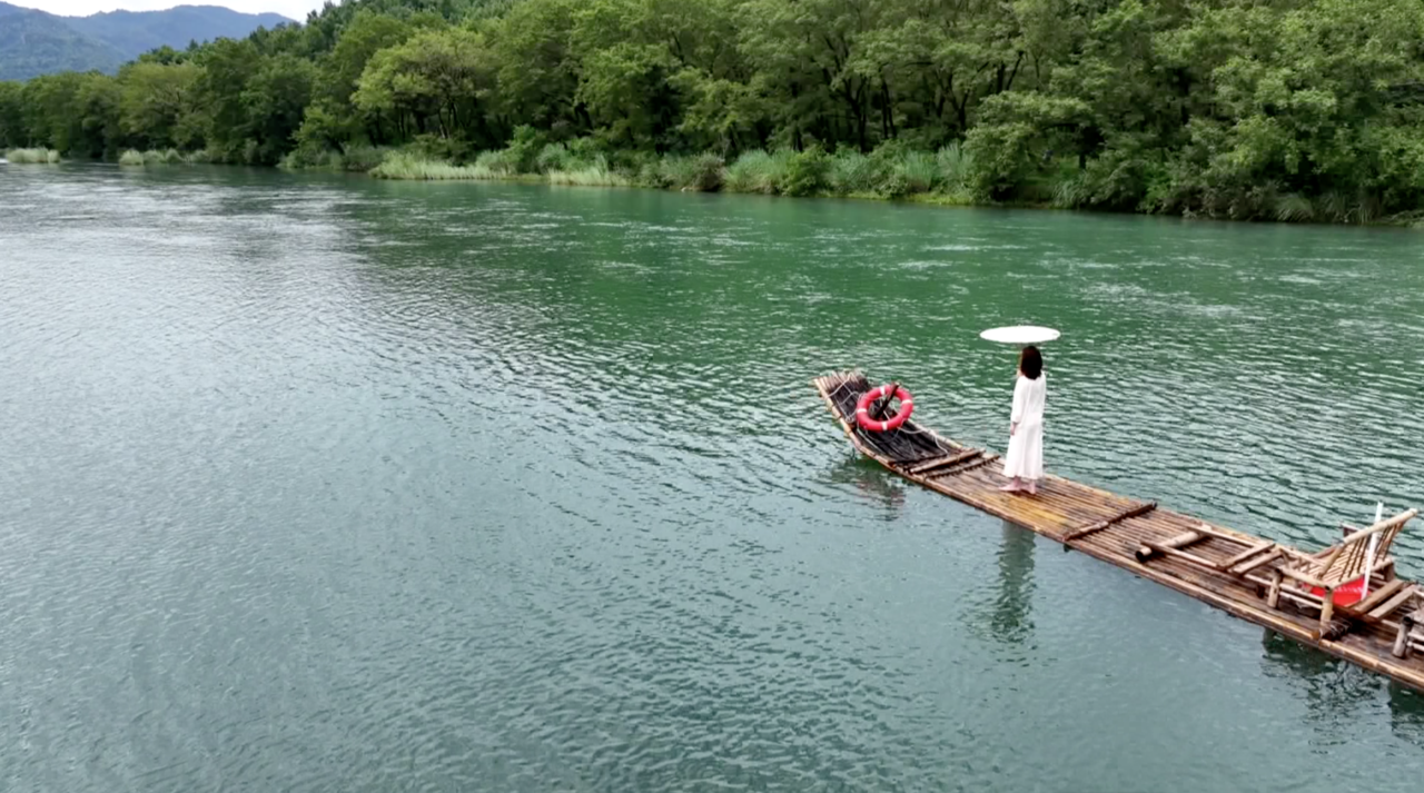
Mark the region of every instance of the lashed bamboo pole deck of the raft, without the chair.
<instances>
[{"instance_id":1,"label":"lashed bamboo pole deck of the raft, without the chair","mask_svg":"<svg viewBox=\"0 0 1424 793\"><path fill-rule=\"evenodd\" d=\"M1393 599L1386 602L1390 619L1333 622L1340 629L1321 635L1317 616L1267 606L1257 585L1240 577L1161 554L1146 561L1138 557L1143 542L1163 544L1198 530L1245 547L1263 545L1262 538L1054 476L1040 484L1037 495L1001 493L1001 464L988 450L963 446L913 421L890 433L856 427L856 400L871 387L859 372L817 377L815 384L850 443L896 474L1424 692L1424 653L1407 651L1397 658L1391 652L1398 619L1414 608L1413 599L1398 604L1398 612L1388 611ZM1240 547L1222 540L1199 542L1190 552L1225 567L1233 557L1247 558Z\"/></svg>"}]
</instances>

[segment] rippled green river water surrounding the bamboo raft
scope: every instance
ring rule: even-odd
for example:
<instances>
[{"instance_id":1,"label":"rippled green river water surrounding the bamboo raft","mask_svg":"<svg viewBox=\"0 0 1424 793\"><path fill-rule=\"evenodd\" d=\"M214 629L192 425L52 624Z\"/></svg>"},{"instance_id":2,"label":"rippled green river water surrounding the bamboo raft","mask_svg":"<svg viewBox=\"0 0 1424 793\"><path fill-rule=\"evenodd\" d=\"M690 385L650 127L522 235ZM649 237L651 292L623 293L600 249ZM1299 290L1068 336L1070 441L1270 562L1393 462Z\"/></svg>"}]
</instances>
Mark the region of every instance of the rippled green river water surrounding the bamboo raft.
<instances>
[{"instance_id":1,"label":"rippled green river water surrounding the bamboo raft","mask_svg":"<svg viewBox=\"0 0 1424 793\"><path fill-rule=\"evenodd\" d=\"M1424 505L1417 233L3 168L3 790L1418 783L1424 698L809 384L1002 447L1051 325L1051 470L1326 542Z\"/></svg>"}]
</instances>

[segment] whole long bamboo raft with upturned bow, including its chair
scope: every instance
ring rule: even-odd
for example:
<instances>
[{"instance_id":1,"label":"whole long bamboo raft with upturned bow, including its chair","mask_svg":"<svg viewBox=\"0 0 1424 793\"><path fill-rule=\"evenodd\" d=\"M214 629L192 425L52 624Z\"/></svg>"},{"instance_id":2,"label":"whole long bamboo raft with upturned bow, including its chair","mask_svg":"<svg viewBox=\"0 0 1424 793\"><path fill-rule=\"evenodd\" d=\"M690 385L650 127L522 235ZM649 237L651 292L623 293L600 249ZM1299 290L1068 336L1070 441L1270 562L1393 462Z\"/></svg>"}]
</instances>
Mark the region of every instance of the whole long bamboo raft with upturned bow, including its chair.
<instances>
[{"instance_id":1,"label":"whole long bamboo raft with upturned bow, including its chair","mask_svg":"<svg viewBox=\"0 0 1424 793\"><path fill-rule=\"evenodd\" d=\"M860 430L856 401L873 387L862 373L813 383L856 450L896 474L1424 692L1424 587L1396 577L1388 554L1418 510L1341 524L1339 542L1309 552L1054 476L1037 495L1002 493L990 450L914 421ZM1364 575L1367 594L1341 605Z\"/></svg>"}]
</instances>

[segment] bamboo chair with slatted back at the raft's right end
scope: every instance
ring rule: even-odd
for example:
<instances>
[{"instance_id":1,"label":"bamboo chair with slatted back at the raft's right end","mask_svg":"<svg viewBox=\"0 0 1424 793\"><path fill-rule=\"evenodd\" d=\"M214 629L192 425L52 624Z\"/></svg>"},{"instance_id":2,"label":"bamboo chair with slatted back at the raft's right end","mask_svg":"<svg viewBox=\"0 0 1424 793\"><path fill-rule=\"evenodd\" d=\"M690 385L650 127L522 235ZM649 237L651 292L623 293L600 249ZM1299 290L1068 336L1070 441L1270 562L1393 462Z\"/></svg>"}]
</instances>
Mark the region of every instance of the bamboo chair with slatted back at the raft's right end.
<instances>
[{"instance_id":1,"label":"bamboo chair with slatted back at the raft's right end","mask_svg":"<svg viewBox=\"0 0 1424 793\"><path fill-rule=\"evenodd\" d=\"M1284 597L1306 608L1319 609L1321 635L1329 631L1337 608L1347 618L1371 621L1397 611L1417 589L1394 579L1390 547L1404 524L1415 515L1418 510L1400 513L1314 554L1277 547L1280 560L1270 565L1266 605L1279 608L1280 598ZM1371 537L1377 538L1373 557ZM1366 581L1370 582L1368 595L1363 597Z\"/></svg>"}]
</instances>

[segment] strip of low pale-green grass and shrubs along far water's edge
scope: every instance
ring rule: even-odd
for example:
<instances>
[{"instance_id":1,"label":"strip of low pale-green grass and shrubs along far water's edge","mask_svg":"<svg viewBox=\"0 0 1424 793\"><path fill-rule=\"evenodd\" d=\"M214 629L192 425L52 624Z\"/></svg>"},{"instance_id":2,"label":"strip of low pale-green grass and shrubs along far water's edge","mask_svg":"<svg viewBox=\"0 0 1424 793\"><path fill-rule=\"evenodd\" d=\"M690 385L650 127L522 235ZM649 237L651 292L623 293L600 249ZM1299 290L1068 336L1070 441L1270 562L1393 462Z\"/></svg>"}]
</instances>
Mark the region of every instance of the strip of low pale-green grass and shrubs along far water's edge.
<instances>
[{"instance_id":1,"label":"strip of low pale-green grass and shrubs along far water's edge","mask_svg":"<svg viewBox=\"0 0 1424 793\"><path fill-rule=\"evenodd\" d=\"M57 151L10 149L11 162L60 162ZM206 151L181 152L128 149L120 165L206 165ZM1067 209L1138 215L1178 215L1188 219L1255 221L1283 224L1371 225L1424 228L1424 208L1381 215L1368 198L1340 194L1303 196L1269 185L1250 202L1226 212L1162 212L1151 205L1135 209L1094 205L1085 196L1085 177L1064 158L1048 175L1020 188L1010 198L987 195L974 181L974 155L958 144L934 152L883 145L870 154L803 151L749 151L731 162L716 154L656 155L602 151L587 140L530 145L520 137L504 149L456 161L413 148L349 147L346 151L292 152L278 164L285 171L366 174L393 181L500 181L571 187L619 187L678 192L733 192L786 198L843 198L900 201L931 206L993 206L1014 209Z\"/></svg>"}]
</instances>

